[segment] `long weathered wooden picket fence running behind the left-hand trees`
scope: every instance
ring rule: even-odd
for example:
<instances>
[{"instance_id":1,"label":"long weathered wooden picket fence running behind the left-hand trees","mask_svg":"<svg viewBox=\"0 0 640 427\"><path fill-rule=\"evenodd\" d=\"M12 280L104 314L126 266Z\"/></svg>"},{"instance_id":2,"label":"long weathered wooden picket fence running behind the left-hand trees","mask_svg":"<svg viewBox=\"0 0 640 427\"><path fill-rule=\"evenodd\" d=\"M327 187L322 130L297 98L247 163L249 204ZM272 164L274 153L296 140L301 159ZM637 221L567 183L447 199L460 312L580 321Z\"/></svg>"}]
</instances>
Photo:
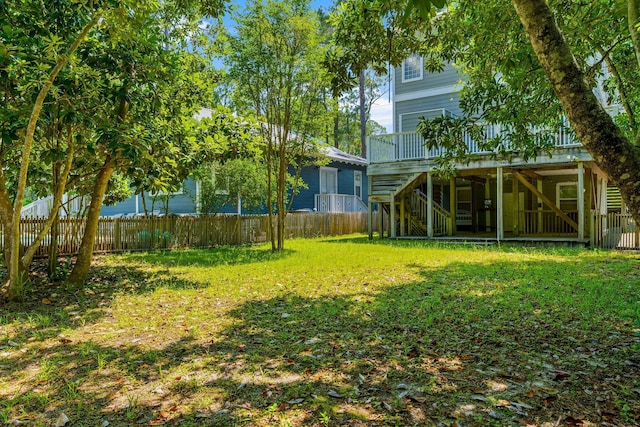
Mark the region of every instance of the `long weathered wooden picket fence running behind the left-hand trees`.
<instances>
[{"instance_id":1,"label":"long weathered wooden picket fence running behind the left-hand trees","mask_svg":"<svg viewBox=\"0 0 640 427\"><path fill-rule=\"evenodd\" d=\"M374 213L375 215L377 214ZM24 245L33 242L45 221L46 218L23 218L20 221L20 238ZM61 218L58 221L57 244L60 255L78 252L85 224L84 218ZM374 221L374 224L377 222ZM4 230L0 228L0 231L1 249L4 247ZM366 213L289 214L285 219L287 238L336 236L366 231ZM266 215L100 218L94 251L203 248L260 243L269 238ZM51 243L49 232L36 256L46 256Z\"/></svg>"}]
</instances>

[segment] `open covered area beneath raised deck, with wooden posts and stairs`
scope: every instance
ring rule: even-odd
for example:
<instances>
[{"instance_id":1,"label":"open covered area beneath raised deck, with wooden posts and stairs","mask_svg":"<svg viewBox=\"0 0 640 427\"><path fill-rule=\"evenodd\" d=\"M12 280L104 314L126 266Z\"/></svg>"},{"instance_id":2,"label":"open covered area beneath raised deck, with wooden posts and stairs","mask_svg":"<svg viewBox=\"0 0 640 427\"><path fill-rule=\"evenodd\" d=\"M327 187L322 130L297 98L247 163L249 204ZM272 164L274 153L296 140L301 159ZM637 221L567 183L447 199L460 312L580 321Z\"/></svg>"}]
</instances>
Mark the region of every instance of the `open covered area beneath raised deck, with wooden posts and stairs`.
<instances>
[{"instance_id":1,"label":"open covered area beneath raised deck, with wooden posts and stairs","mask_svg":"<svg viewBox=\"0 0 640 427\"><path fill-rule=\"evenodd\" d=\"M592 212L606 213L607 194L606 175L585 157L535 165L478 162L446 179L428 161L374 165L371 202L385 216L377 228L391 238L585 245ZM404 174L389 173L402 166ZM416 170L420 166L423 172ZM378 170L384 173L378 176Z\"/></svg>"}]
</instances>

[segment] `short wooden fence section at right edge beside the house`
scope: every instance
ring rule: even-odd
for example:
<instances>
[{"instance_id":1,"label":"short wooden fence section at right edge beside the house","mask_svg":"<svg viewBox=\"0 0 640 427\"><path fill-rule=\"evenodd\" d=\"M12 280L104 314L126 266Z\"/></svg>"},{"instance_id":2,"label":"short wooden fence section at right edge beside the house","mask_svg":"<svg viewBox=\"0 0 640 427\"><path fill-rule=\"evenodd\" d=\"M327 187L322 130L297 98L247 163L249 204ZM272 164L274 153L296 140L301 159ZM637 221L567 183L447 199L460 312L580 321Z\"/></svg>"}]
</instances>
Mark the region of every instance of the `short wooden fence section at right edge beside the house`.
<instances>
[{"instance_id":1,"label":"short wooden fence section at right edge beside the house","mask_svg":"<svg viewBox=\"0 0 640 427\"><path fill-rule=\"evenodd\" d=\"M591 247L640 249L640 227L627 213L591 212Z\"/></svg>"}]
</instances>

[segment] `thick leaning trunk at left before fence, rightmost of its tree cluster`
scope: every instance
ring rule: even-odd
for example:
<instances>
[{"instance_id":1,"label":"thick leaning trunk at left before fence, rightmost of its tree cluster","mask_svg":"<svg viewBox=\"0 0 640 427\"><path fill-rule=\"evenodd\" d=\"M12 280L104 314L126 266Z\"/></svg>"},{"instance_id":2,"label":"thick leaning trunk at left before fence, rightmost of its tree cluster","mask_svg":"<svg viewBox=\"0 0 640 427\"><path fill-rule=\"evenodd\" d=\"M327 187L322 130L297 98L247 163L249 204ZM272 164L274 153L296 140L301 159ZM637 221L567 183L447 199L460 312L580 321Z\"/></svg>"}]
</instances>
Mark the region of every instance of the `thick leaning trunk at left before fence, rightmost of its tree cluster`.
<instances>
[{"instance_id":1,"label":"thick leaning trunk at left before fence, rightmost of its tree cluster","mask_svg":"<svg viewBox=\"0 0 640 427\"><path fill-rule=\"evenodd\" d=\"M115 161L111 158L107 159L105 165L100 169L96 177L93 192L91 193L89 215L87 216L87 223L85 225L84 235L82 236L82 242L80 243L80 249L78 249L78 258L67 279L69 285L76 287L82 286L87 278L87 274L89 274L91 258L93 257L93 245L95 244L98 231L100 209L102 208L102 198L107 191L107 185L113 174L114 167Z\"/></svg>"}]
</instances>

